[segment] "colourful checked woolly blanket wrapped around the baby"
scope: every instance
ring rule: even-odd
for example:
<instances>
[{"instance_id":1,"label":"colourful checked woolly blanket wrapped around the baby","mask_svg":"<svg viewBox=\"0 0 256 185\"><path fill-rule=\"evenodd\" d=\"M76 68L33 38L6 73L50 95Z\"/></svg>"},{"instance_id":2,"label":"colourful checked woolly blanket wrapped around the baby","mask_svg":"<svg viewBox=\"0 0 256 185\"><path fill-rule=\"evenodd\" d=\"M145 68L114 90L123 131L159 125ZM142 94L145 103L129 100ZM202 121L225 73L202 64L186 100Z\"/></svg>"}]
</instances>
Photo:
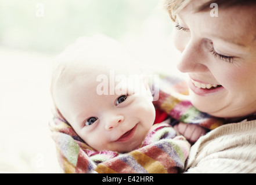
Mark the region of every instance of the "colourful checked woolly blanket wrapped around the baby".
<instances>
[{"instance_id":1,"label":"colourful checked woolly blanket wrapped around the baby","mask_svg":"<svg viewBox=\"0 0 256 185\"><path fill-rule=\"evenodd\" d=\"M172 118L208 129L222 124L221 120L192 106L185 96L188 88L183 80L161 75L158 85L161 88L154 105ZM49 126L65 173L178 173L185 168L190 149L185 138L177 136L167 123L153 125L142 146L125 154L93 150L57 111Z\"/></svg>"}]
</instances>

